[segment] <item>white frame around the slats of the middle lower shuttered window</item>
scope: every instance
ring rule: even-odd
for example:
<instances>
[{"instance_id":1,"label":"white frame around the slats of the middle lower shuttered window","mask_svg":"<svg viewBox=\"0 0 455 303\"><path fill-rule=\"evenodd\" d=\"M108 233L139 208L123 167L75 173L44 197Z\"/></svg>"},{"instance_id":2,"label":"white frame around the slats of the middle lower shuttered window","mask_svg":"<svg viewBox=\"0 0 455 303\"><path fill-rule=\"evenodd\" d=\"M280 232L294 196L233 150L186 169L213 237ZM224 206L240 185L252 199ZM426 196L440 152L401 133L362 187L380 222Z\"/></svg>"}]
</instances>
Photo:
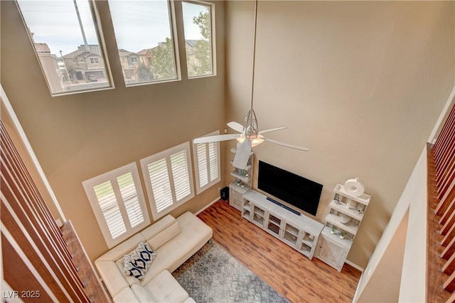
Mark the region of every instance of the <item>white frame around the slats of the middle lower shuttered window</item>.
<instances>
[{"instance_id":1,"label":"white frame around the slats of the middle lower shuttered window","mask_svg":"<svg viewBox=\"0 0 455 303\"><path fill-rule=\"evenodd\" d=\"M186 197L181 199L180 201L176 201L176 189L175 185L173 183L173 178L172 178L172 170L171 170L171 155L174 155L176 153L179 153L181 151L186 152L186 162L187 162L187 168L188 168L188 180L189 180L189 186L190 186L190 194L188 194ZM156 202L155 202L155 197L154 197L154 191L151 186L150 182L150 176L149 176L149 168L148 165L156 162L158 160L163 160L166 159L166 165L168 167L168 177L169 177L169 183L171 186L171 193L172 193L172 204L166 209L163 209L161 211L157 211L156 209ZM156 221L157 219L161 218L162 216L166 215L169 213L169 211L172 211L173 209L176 209L178 206L181 206L185 202L188 202L188 200L192 199L194 197L194 184L193 184L193 168L191 165L191 151L190 151L190 143L182 143L180 145L177 145L173 148L169 148L168 150L164 150L160 153L156 153L154 155L151 155L147 158L141 159L141 170L142 170L142 175L144 177L144 182L145 182L145 187L146 187L146 192L147 192L147 197L149 197L149 204L151 208L151 214L153 216L153 219Z\"/></svg>"}]
</instances>

